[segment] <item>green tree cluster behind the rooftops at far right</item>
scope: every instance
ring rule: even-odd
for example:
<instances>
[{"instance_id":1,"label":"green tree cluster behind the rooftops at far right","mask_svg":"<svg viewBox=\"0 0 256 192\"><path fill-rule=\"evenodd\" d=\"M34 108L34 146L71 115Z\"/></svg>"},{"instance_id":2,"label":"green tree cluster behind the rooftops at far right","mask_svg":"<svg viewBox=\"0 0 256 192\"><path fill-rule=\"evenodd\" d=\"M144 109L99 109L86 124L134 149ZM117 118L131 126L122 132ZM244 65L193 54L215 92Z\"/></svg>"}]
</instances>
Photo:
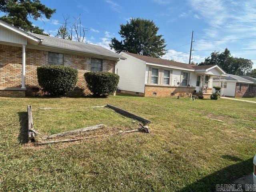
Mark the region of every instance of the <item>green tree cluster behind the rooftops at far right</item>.
<instances>
[{"instance_id":1,"label":"green tree cluster behind the rooftops at far right","mask_svg":"<svg viewBox=\"0 0 256 192\"><path fill-rule=\"evenodd\" d=\"M204 59L199 65L218 65L228 74L244 75L252 69L252 61L244 58L233 57L228 48L224 52L212 52L211 56Z\"/></svg>"}]
</instances>

